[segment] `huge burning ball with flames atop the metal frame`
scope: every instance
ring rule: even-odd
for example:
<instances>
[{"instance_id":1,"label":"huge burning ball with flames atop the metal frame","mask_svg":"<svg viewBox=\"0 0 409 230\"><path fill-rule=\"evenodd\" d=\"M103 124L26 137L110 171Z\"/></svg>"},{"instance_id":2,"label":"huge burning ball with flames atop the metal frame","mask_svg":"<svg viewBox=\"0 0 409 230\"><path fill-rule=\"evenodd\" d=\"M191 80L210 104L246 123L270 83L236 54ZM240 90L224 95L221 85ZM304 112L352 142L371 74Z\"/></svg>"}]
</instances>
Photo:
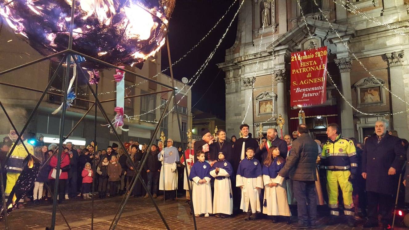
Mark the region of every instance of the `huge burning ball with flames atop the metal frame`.
<instances>
[{"instance_id":1,"label":"huge burning ball with flames atop the metal frame","mask_svg":"<svg viewBox=\"0 0 409 230\"><path fill-rule=\"evenodd\" d=\"M164 45L174 6L175 0L76 0L72 49L142 68ZM68 48L71 7L72 0L0 0L0 15L19 38L50 55Z\"/></svg>"}]
</instances>

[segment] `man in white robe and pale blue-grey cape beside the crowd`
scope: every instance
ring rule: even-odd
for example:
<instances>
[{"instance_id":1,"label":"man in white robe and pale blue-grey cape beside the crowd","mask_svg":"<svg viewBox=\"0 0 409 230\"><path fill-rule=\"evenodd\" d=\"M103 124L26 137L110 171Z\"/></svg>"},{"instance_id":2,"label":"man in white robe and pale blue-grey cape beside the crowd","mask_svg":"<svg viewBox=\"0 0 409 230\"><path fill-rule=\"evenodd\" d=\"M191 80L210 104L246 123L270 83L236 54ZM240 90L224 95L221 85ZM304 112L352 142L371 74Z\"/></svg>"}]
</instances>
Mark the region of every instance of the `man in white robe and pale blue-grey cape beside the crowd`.
<instances>
[{"instance_id":1,"label":"man in white robe and pale blue-grey cape beside the crowd","mask_svg":"<svg viewBox=\"0 0 409 230\"><path fill-rule=\"evenodd\" d=\"M179 153L173 147L173 140L166 141L166 148L158 154L159 161L162 162L160 170L159 190L164 191L165 199L174 200L178 189L178 174L176 171L176 161L179 160Z\"/></svg>"}]
</instances>

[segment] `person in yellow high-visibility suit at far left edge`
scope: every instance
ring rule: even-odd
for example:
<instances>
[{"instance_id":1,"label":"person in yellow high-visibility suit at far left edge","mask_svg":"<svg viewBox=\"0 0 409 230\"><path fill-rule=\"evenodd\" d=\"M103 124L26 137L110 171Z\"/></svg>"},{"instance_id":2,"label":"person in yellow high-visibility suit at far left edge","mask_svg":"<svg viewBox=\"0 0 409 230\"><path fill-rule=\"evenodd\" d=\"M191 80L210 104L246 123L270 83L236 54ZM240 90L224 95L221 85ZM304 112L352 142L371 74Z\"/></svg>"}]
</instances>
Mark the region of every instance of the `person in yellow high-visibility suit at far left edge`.
<instances>
[{"instance_id":1,"label":"person in yellow high-visibility suit at far left edge","mask_svg":"<svg viewBox=\"0 0 409 230\"><path fill-rule=\"evenodd\" d=\"M27 147L27 150L31 155L34 155L34 148L31 144L27 142L27 140L24 140L24 135L21 136L21 140L24 141L25 146ZM11 149L13 148L14 143L11 145ZM13 150L11 153L11 156L9 160L7 161L6 165L6 171L7 171L7 183L6 183L6 189L4 191L4 195L6 196L6 202L9 198L10 192L13 189L14 185L16 185L16 182L18 180L18 177L20 176L21 172L23 171L24 167L24 159L27 158L28 153L25 150L24 146L22 145L21 142L16 146L16 148ZM22 209L24 208L23 205L24 199L20 199L18 208Z\"/></svg>"}]
</instances>

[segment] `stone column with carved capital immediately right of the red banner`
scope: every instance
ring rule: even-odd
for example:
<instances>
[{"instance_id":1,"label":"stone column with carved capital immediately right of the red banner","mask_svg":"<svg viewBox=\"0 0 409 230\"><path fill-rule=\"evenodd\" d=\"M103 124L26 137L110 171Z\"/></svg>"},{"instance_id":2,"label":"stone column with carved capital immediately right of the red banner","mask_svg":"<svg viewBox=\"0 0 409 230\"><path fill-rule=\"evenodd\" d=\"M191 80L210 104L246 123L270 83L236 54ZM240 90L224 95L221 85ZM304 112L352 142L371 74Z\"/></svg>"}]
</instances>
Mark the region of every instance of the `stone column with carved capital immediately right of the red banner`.
<instances>
[{"instance_id":1,"label":"stone column with carved capital immediately right of the red banner","mask_svg":"<svg viewBox=\"0 0 409 230\"><path fill-rule=\"evenodd\" d=\"M353 110L352 107L348 105L348 101L352 105L352 95L351 95L351 66L352 60L350 57L334 59L335 64L339 68L341 74L341 92L344 95L340 97L341 102L341 130L342 135L346 138L355 137L354 133L354 120L353 120Z\"/></svg>"}]
</instances>

